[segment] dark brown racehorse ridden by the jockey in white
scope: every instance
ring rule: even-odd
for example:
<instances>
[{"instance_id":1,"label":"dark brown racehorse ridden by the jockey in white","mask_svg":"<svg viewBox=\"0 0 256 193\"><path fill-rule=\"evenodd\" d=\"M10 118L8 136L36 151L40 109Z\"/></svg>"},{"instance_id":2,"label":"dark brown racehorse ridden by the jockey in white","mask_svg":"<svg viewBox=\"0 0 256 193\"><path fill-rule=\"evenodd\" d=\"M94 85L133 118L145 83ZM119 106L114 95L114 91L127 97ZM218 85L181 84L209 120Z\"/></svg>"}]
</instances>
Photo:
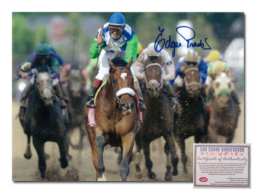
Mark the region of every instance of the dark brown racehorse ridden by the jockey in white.
<instances>
[{"instance_id":1,"label":"dark brown racehorse ridden by the jockey in white","mask_svg":"<svg viewBox=\"0 0 256 193\"><path fill-rule=\"evenodd\" d=\"M140 151L143 149L145 155L145 165L148 169L148 178L155 179L156 174L152 172L153 163L150 159L150 143L160 138L165 139L164 151L167 155L167 171L165 181L172 181L172 175L178 175L178 156L175 149L174 122L175 115L172 109L171 99L164 91L162 81L162 70L159 63L149 63L145 67L146 93L144 100L147 107L143 113L143 123L136 136L136 178L142 177L140 169ZM171 174L171 164L173 171Z\"/></svg>"}]
</instances>

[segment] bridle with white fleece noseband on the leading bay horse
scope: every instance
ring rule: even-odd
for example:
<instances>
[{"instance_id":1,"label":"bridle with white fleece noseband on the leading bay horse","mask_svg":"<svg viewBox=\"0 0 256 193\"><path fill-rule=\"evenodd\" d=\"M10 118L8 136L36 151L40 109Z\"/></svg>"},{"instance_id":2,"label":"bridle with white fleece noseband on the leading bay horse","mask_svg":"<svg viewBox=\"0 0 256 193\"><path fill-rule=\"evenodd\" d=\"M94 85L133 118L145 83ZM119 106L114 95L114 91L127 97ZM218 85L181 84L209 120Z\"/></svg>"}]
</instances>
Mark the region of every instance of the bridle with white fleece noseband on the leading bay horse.
<instances>
[{"instance_id":1,"label":"bridle with white fleece noseband on the leading bay horse","mask_svg":"<svg viewBox=\"0 0 256 193\"><path fill-rule=\"evenodd\" d=\"M121 107L122 102L120 100L121 95L130 94L131 98L135 95L135 91L132 88L125 87L125 88L122 88L122 89L116 91L116 88L114 87L114 73L115 73L116 70L123 69L123 68L127 68L130 71L130 73L132 73L132 71L130 70L130 67L126 67L126 66L117 67L117 68L115 68L111 71L111 73L113 75L112 75L110 88L111 88L111 91L113 93L114 99L116 100L117 104L119 105L119 109L122 109L122 107ZM132 86L133 86L133 80L132 80Z\"/></svg>"}]
</instances>

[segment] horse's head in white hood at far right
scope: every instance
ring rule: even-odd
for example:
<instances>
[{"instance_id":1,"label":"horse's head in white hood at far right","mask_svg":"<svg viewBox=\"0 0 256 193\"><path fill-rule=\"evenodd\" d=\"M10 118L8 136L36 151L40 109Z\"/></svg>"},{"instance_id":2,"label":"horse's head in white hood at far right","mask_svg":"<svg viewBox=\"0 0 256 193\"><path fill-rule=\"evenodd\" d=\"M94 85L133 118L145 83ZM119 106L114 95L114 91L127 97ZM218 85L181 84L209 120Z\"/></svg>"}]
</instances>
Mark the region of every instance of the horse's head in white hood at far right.
<instances>
[{"instance_id":1,"label":"horse's head in white hood at far right","mask_svg":"<svg viewBox=\"0 0 256 193\"><path fill-rule=\"evenodd\" d=\"M222 109L228 107L229 96L232 91L231 78L226 73L221 73L213 80L214 95L217 106Z\"/></svg>"}]
</instances>

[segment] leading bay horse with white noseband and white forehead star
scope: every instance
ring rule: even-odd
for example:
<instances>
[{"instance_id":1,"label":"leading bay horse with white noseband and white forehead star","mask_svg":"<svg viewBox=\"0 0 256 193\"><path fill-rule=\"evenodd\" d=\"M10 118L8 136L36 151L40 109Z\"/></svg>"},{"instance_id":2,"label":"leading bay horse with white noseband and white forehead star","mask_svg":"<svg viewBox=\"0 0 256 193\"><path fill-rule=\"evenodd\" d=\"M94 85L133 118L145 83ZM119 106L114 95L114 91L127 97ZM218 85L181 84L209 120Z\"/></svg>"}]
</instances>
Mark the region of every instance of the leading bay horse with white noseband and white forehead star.
<instances>
[{"instance_id":1,"label":"leading bay horse with white noseband and white forehead star","mask_svg":"<svg viewBox=\"0 0 256 193\"><path fill-rule=\"evenodd\" d=\"M96 170L96 180L105 181L103 162L104 146L120 146L122 160L120 164L121 181L129 175L129 163L136 136L137 109L134 99L133 74L130 66L118 55L111 61L110 75L95 102L95 127L89 126L88 108L85 113L85 126L92 149L92 161Z\"/></svg>"}]
</instances>

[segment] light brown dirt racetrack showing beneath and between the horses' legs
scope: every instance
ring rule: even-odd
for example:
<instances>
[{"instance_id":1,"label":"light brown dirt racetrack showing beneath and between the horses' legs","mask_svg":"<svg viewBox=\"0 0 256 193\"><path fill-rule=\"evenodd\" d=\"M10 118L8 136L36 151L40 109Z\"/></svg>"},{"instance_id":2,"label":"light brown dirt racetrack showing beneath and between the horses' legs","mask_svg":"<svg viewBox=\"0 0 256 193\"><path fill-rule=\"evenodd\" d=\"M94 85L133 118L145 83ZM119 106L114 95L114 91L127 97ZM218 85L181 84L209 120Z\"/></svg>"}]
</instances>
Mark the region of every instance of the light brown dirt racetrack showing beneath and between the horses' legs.
<instances>
[{"instance_id":1,"label":"light brown dirt racetrack showing beneath and between the horses' legs","mask_svg":"<svg viewBox=\"0 0 256 193\"><path fill-rule=\"evenodd\" d=\"M233 143L244 143L244 100L241 99L241 102L242 112L239 116L238 128L236 129ZM38 158L32 143L32 158L27 160L23 156L27 145L27 137L23 133L20 121L17 118L18 110L19 104L14 100L12 102L12 180L41 181L37 166ZM75 133L73 133L72 140L75 140L75 138ZM188 156L188 174L183 173L180 149L178 148L178 145L176 145L177 154L180 158L178 163L179 174L173 176L173 181L193 181L193 142L193 137L185 140L185 148ZM57 148L56 143L47 142L45 145L45 152L50 155L50 158L46 161L47 168L45 181L95 181L95 169L92 164L91 148L87 136L84 138L84 148L82 151L69 148L69 153L72 155L72 159L69 161L69 166L65 169L60 168L60 163L58 161L59 149ZM105 176L108 181L120 181L117 156L114 148L107 146L104 149ZM153 162L152 171L156 173L155 181L164 181L166 159L163 138L159 138L151 143L151 159ZM135 166L132 161L130 163L130 174L127 181L152 181L147 176L143 156L141 163L143 178L139 180L135 178Z\"/></svg>"}]
</instances>

